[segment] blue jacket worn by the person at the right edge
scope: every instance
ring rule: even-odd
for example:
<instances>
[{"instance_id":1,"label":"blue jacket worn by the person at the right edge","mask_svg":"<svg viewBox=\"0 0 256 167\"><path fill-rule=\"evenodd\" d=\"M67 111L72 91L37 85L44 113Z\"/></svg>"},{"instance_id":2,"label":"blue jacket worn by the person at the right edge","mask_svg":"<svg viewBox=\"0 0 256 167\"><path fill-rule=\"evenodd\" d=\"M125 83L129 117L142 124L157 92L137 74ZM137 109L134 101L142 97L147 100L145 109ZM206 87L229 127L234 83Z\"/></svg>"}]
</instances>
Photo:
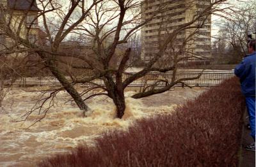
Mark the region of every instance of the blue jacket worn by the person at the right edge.
<instances>
[{"instance_id":1,"label":"blue jacket worn by the person at the right edge","mask_svg":"<svg viewBox=\"0 0 256 167\"><path fill-rule=\"evenodd\" d=\"M245 96L255 96L255 61L256 52L249 54L236 66L235 74L240 78L242 92Z\"/></svg>"}]
</instances>

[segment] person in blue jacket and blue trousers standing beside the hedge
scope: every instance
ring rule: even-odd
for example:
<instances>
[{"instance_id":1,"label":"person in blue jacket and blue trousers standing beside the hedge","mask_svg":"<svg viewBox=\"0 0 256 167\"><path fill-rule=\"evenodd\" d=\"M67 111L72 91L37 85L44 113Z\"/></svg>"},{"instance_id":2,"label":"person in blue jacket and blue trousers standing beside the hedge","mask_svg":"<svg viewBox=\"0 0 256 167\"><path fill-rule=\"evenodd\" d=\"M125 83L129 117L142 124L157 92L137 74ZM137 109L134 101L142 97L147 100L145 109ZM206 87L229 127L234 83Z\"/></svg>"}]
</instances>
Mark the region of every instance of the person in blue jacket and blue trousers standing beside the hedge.
<instances>
[{"instance_id":1,"label":"person in blue jacket and blue trousers standing beside the hedge","mask_svg":"<svg viewBox=\"0 0 256 167\"><path fill-rule=\"evenodd\" d=\"M254 142L246 146L246 150L255 151L255 42L250 40L248 44L249 54L236 66L234 72L240 78L241 90L245 96L248 116L250 120L251 136Z\"/></svg>"}]
</instances>

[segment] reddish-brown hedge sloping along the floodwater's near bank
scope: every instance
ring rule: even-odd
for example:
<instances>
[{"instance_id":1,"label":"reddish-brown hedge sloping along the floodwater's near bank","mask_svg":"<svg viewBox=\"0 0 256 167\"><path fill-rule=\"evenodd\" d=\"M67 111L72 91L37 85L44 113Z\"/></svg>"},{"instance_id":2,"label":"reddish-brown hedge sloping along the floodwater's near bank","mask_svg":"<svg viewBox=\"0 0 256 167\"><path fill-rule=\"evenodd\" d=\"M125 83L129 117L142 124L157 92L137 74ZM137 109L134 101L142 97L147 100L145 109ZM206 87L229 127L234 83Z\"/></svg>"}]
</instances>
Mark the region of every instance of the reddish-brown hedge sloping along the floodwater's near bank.
<instances>
[{"instance_id":1,"label":"reddish-brown hedge sloping along the floodwater's near bank","mask_svg":"<svg viewBox=\"0 0 256 167\"><path fill-rule=\"evenodd\" d=\"M173 115L143 119L128 132L55 155L38 166L237 166L244 97L236 78L188 101Z\"/></svg>"}]
</instances>

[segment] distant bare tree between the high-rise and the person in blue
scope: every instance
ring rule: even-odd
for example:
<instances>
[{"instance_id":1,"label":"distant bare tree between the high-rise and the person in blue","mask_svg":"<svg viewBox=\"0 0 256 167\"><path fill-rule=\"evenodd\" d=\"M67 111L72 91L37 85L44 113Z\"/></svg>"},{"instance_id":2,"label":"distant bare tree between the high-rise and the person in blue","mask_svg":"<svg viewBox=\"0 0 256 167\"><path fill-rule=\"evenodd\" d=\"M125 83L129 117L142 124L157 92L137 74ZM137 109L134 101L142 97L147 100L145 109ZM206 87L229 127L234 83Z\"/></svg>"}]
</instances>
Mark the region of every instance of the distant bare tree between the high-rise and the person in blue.
<instances>
[{"instance_id":1,"label":"distant bare tree between the high-rise and the person in blue","mask_svg":"<svg viewBox=\"0 0 256 167\"><path fill-rule=\"evenodd\" d=\"M247 54L247 35L256 32L255 3L244 2L239 10L230 12L232 18L223 17L221 20L215 43L216 54L223 63L239 63Z\"/></svg>"}]
</instances>

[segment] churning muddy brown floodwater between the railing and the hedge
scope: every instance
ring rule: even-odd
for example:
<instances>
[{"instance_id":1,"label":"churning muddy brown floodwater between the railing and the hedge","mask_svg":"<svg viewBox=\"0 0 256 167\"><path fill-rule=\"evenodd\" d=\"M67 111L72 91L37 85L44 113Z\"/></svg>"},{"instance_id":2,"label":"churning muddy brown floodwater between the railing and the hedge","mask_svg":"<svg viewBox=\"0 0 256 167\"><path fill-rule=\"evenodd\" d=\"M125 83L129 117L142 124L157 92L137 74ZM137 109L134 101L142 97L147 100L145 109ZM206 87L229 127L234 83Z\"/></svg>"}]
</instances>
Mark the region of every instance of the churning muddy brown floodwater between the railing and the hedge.
<instances>
[{"instance_id":1,"label":"churning muddy brown floodwater between the railing and the hedge","mask_svg":"<svg viewBox=\"0 0 256 167\"><path fill-rule=\"evenodd\" d=\"M65 103L69 97L61 91L45 118L27 129L42 115L33 113L26 122L17 121L35 105L40 93L13 88L0 108L0 166L35 166L45 157L72 150L79 143L93 146L93 139L102 132L127 129L134 120L143 117L170 114L177 105L203 91L175 88L144 99L132 99L135 92L127 91L127 109L122 120L115 118L115 106L106 97L91 99L88 106L93 112L83 118L74 103Z\"/></svg>"}]
</instances>

